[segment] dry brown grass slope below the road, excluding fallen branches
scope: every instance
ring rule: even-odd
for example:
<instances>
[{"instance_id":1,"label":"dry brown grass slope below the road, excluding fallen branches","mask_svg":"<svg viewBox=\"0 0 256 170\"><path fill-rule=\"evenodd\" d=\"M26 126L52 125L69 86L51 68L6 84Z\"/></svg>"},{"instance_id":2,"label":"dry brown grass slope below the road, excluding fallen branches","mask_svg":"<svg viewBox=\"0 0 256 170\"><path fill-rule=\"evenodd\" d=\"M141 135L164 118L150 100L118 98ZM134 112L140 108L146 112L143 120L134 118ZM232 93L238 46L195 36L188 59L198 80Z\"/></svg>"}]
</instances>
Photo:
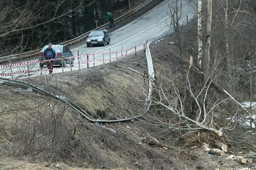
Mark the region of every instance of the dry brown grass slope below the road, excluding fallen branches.
<instances>
[{"instance_id":1,"label":"dry brown grass slope below the road, excluding fallen branches","mask_svg":"<svg viewBox=\"0 0 256 170\"><path fill-rule=\"evenodd\" d=\"M151 54L157 80L183 75L180 68L189 65L179 58L172 37L155 44ZM141 51L118 63L22 79L66 97L95 120L120 122L89 121L52 97L1 86L0 169L255 169L255 142L252 150L236 147L242 146L236 138L252 143L255 136L230 132L237 143L224 156L215 156L201 148L211 133L172 131L166 118L170 112L157 106L146 111L146 63ZM235 162L234 154L252 162Z\"/></svg>"}]
</instances>

